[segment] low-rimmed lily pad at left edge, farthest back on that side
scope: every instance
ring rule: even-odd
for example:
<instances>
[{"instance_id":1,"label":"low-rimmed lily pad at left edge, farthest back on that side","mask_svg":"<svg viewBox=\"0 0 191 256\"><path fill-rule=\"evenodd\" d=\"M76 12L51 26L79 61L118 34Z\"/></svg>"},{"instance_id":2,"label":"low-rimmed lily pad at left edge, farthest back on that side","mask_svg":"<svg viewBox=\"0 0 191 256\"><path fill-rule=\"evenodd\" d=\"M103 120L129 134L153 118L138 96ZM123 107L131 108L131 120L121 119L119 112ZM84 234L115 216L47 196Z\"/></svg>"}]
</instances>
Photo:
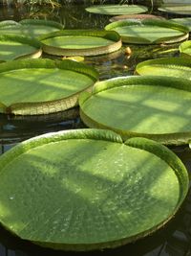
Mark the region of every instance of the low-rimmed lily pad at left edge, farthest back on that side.
<instances>
[{"instance_id":1,"label":"low-rimmed lily pad at left edge, farthest back on that side","mask_svg":"<svg viewBox=\"0 0 191 256\"><path fill-rule=\"evenodd\" d=\"M38 37L55 31L62 30L63 26L60 23L51 20L42 19L24 19L19 23L11 22L11 20L0 22L0 35L27 35Z\"/></svg>"}]
</instances>

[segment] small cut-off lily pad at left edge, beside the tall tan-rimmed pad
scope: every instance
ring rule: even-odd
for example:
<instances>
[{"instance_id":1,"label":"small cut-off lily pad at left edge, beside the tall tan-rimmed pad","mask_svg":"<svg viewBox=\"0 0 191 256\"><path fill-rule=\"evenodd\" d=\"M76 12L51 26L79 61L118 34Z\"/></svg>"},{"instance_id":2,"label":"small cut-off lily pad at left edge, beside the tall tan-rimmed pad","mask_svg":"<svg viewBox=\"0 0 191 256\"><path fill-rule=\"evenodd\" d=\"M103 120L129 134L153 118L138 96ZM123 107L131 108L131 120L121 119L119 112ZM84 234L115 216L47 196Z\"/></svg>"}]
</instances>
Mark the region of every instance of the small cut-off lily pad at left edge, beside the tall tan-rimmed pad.
<instances>
[{"instance_id":1,"label":"small cut-off lily pad at left edge, beside the tall tan-rimmed pad","mask_svg":"<svg viewBox=\"0 0 191 256\"><path fill-rule=\"evenodd\" d=\"M41 44L34 38L21 35L0 35L0 60L39 58Z\"/></svg>"}]
</instances>

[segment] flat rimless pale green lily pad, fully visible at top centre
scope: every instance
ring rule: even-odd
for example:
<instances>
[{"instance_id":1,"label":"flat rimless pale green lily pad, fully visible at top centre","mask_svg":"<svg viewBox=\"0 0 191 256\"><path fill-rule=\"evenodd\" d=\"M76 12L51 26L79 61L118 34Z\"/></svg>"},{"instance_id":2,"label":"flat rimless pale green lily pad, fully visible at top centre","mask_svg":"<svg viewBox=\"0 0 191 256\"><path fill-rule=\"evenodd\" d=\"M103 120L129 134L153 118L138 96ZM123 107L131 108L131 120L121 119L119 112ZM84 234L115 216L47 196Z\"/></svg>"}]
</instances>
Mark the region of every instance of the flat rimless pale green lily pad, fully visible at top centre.
<instances>
[{"instance_id":1,"label":"flat rimless pale green lily pad, fully visible at top centre","mask_svg":"<svg viewBox=\"0 0 191 256\"><path fill-rule=\"evenodd\" d=\"M119 15L147 12L148 8L138 5L96 5L86 8L86 11L106 15Z\"/></svg>"}]
</instances>

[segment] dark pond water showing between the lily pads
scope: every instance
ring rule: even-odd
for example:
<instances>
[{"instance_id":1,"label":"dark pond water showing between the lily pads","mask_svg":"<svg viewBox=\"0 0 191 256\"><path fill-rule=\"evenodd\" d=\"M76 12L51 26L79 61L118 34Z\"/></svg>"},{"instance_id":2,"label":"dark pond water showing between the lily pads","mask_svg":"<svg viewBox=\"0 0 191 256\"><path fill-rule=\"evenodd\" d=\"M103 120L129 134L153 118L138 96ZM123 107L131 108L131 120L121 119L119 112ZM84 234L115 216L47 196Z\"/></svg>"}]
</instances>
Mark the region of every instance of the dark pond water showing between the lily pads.
<instances>
[{"instance_id":1,"label":"dark pond water showing between the lily pads","mask_svg":"<svg viewBox=\"0 0 191 256\"><path fill-rule=\"evenodd\" d=\"M156 13L156 12L154 12ZM157 13L162 14L162 13ZM164 17L177 17L167 16ZM109 16L85 12L83 5L66 5L60 9L42 8L39 6L0 7L0 20L22 18L50 18L65 24L67 29L102 29L109 23ZM95 66L100 73L100 80L117 76L133 75L138 62L148 58L178 56L178 45L171 46L135 46L128 45L132 54L125 55L125 47L113 54L94 58L85 58L85 62ZM46 57L46 56L44 56ZM53 58L53 57L52 57ZM78 108L67 112L23 119L0 115L0 154L8 151L27 138L62 129L83 128ZM191 171L191 152L188 147L173 148L188 172ZM117 249L73 253L53 251L34 244L26 243L13 237L3 227L0 227L0 256L61 256L61 255L130 255L130 256L189 256L191 255L191 192L182 205L180 212L154 235L134 244L127 244Z\"/></svg>"}]
</instances>

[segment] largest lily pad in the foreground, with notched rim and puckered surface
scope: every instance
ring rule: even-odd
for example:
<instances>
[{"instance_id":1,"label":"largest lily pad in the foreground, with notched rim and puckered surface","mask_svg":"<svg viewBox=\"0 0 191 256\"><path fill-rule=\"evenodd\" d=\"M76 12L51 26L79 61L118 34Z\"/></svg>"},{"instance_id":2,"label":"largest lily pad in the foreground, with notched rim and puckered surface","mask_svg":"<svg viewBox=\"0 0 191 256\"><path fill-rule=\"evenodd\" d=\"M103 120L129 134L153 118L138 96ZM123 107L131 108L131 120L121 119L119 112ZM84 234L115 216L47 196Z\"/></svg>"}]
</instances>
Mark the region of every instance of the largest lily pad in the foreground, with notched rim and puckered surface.
<instances>
[{"instance_id":1,"label":"largest lily pad in the foreground, with notched rim and puckered surface","mask_svg":"<svg viewBox=\"0 0 191 256\"><path fill-rule=\"evenodd\" d=\"M149 235L176 214L188 190L172 151L144 138L123 143L100 129L32 138L1 156L0 170L0 222L22 239L67 250Z\"/></svg>"}]
</instances>

